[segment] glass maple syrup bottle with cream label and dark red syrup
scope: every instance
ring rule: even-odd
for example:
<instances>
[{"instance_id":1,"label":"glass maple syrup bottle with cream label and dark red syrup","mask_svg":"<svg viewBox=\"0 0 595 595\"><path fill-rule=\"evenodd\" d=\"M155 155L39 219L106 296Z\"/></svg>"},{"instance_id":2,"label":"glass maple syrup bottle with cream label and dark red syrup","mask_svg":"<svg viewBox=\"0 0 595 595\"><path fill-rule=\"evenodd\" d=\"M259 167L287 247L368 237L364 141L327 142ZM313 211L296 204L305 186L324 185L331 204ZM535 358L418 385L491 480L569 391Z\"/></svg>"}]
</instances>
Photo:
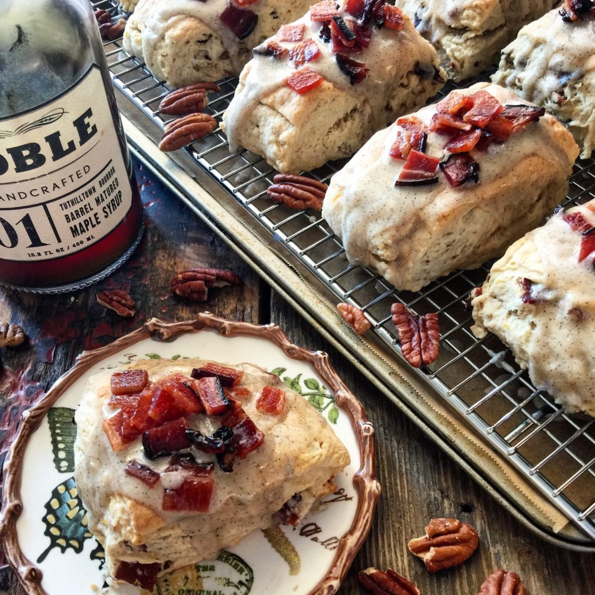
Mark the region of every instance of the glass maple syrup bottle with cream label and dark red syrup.
<instances>
[{"instance_id":1,"label":"glass maple syrup bottle with cream label and dark red syrup","mask_svg":"<svg viewBox=\"0 0 595 595\"><path fill-rule=\"evenodd\" d=\"M0 283L87 286L130 256L142 222L89 0L0 0Z\"/></svg>"}]
</instances>

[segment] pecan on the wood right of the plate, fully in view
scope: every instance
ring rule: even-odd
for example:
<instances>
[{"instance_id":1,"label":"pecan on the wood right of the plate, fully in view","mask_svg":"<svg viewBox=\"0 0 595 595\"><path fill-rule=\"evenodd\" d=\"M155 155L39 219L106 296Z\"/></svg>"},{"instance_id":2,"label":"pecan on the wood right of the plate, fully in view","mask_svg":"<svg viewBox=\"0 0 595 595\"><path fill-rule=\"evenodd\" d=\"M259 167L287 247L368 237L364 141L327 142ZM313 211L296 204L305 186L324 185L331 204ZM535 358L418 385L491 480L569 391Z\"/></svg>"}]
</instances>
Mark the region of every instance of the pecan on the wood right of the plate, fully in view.
<instances>
[{"instance_id":1,"label":"pecan on the wood right of the plate, fully in view","mask_svg":"<svg viewBox=\"0 0 595 595\"><path fill-rule=\"evenodd\" d=\"M409 541L409 551L424 560L430 572L458 566L477 549L477 531L457 519L431 519L424 537Z\"/></svg>"}]
</instances>

